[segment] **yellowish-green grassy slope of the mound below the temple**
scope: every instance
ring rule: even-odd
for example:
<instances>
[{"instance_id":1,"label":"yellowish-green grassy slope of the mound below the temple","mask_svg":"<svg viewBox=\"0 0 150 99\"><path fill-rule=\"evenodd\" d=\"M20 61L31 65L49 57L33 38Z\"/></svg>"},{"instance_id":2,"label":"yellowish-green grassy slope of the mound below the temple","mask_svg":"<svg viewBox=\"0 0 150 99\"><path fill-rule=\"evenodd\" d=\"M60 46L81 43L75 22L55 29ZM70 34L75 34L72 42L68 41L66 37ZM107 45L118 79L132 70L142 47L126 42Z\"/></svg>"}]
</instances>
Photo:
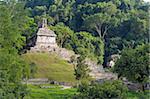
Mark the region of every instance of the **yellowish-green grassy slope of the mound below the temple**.
<instances>
[{"instance_id":1,"label":"yellowish-green grassy slope of the mound below the temple","mask_svg":"<svg viewBox=\"0 0 150 99\"><path fill-rule=\"evenodd\" d=\"M55 54L27 53L23 58L28 63L35 63L35 78L48 78L55 81L75 82L73 65L60 59Z\"/></svg>"}]
</instances>

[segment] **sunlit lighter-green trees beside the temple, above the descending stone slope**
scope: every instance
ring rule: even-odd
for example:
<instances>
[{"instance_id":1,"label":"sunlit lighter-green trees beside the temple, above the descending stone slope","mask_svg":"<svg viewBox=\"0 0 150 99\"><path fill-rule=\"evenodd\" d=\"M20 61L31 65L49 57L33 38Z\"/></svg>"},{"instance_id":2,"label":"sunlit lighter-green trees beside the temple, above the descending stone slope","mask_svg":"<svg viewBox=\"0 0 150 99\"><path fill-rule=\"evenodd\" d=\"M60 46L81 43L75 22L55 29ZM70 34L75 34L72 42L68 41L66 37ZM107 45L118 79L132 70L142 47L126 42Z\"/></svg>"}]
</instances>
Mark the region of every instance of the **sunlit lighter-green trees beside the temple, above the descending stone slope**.
<instances>
[{"instance_id":1,"label":"sunlit lighter-green trees beside the temple, above the descending stone slope","mask_svg":"<svg viewBox=\"0 0 150 99\"><path fill-rule=\"evenodd\" d=\"M104 44L98 37L92 36L89 32L74 33L63 23L50 26L50 28L57 34L56 40L60 47L73 50L100 64L103 63Z\"/></svg>"}]
</instances>

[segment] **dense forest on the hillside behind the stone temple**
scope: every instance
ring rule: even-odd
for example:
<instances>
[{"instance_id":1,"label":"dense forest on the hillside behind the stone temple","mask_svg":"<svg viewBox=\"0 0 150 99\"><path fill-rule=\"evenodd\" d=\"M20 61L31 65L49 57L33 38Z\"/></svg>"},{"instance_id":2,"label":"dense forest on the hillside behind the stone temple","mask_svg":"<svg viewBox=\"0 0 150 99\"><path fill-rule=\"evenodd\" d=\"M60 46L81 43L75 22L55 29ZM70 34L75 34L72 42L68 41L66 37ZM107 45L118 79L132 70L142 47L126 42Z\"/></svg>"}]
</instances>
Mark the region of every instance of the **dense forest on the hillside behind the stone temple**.
<instances>
[{"instance_id":1,"label":"dense forest on the hillside behind the stone temple","mask_svg":"<svg viewBox=\"0 0 150 99\"><path fill-rule=\"evenodd\" d=\"M26 2L26 9L35 23L45 15L49 25L55 27L56 33L60 34L57 39L60 46L94 58L101 64L104 53L106 61L108 56L118 54L126 47L148 43L148 7L149 4L142 0Z\"/></svg>"}]
</instances>

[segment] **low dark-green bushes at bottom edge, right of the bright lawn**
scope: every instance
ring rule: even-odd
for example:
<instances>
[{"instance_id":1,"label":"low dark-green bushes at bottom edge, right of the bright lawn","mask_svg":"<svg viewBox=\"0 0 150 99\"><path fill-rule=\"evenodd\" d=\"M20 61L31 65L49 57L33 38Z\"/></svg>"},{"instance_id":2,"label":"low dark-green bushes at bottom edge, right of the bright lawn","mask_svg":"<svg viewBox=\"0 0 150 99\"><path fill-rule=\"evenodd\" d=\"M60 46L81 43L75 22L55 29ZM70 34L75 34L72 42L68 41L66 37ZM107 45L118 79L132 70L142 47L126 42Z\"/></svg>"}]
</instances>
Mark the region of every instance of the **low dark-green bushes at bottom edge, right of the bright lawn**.
<instances>
[{"instance_id":1,"label":"low dark-green bushes at bottom edge, right of the bright lawn","mask_svg":"<svg viewBox=\"0 0 150 99\"><path fill-rule=\"evenodd\" d=\"M74 99L123 99L127 87L121 81L105 81L99 83L81 83L78 88L79 94Z\"/></svg>"}]
</instances>

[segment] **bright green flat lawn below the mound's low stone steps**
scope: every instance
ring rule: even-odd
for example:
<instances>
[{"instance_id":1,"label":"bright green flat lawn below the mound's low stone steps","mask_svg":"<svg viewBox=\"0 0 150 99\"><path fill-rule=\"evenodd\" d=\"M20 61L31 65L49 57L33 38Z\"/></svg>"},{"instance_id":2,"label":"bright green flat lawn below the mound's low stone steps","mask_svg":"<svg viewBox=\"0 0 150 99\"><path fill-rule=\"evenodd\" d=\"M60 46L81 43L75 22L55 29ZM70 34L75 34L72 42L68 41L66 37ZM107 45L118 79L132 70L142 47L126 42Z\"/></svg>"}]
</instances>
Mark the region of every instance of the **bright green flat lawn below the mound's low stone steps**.
<instances>
[{"instance_id":1,"label":"bright green flat lawn below the mound's low stone steps","mask_svg":"<svg viewBox=\"0 0 150 99\"><path fill-rule=\"evenodd\" d=\"M28 85L30 94L25 97L25 99L71 99L71 97L76 93L75 88L62 89L60 86L56 85L44 85L51 86L51 88L40 88L43 85Z\"/></svg>"}]
</instances>

